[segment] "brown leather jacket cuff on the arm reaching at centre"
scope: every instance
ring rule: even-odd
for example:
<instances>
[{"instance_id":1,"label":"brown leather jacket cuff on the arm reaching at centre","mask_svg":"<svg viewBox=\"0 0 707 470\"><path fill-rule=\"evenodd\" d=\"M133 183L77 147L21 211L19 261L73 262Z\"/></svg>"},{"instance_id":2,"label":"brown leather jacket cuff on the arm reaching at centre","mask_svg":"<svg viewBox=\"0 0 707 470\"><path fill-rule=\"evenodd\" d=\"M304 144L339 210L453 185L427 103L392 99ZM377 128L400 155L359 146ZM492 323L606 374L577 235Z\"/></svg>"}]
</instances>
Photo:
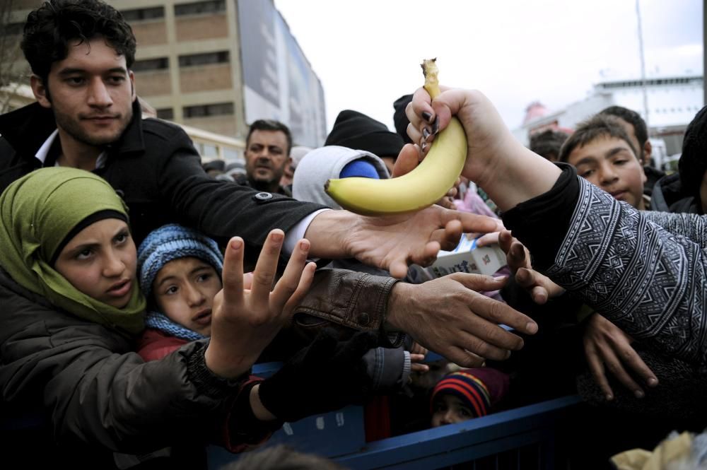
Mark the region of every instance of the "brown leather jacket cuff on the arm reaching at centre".
<instances>
[{"instance_id":1,"label":"brown leather jacket cuff on the arm reaching at centre","mask_svg":"<svg viewBox=\"0 0 707 470\"><path fill-rule=\"evenodd\" d=\"M346 269L319 269L295 309L293 327L310 338L323 327L336 325L351 332L379 331L382 346L397 347L404 334L383 329L390 291L397 281Z\"/></svg>"}]
</instances>

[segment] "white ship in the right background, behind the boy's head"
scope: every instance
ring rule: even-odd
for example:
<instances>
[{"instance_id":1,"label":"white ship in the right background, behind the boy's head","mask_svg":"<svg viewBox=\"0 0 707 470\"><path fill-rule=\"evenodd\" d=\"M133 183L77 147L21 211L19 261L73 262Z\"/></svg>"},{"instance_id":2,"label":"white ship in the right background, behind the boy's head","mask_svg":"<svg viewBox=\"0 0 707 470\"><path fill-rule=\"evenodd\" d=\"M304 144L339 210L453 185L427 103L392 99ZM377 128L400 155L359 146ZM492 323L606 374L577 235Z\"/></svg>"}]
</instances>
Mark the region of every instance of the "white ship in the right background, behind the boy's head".
<instances>
[{"instance_id":1,"label":"white ship in the right background, behind the boy's head","mask_svg":"<svg viewBox=\"0 0 707 470\"><path fill-rule=\"evenodd\" d=\"M592 93L577 102L549 111L539 102L526 109L523 124L513 131L516 139L527 145L529 136L545 129L574 129L576 125L606 107L618 105L641 114L648 122L651 139L665 143L665 153L682 151L687 124L703 107L703 76L665 76L645 80L648 114L643 106L643 83L638 79L597 83Z\"/></svg>"}]
</instances>

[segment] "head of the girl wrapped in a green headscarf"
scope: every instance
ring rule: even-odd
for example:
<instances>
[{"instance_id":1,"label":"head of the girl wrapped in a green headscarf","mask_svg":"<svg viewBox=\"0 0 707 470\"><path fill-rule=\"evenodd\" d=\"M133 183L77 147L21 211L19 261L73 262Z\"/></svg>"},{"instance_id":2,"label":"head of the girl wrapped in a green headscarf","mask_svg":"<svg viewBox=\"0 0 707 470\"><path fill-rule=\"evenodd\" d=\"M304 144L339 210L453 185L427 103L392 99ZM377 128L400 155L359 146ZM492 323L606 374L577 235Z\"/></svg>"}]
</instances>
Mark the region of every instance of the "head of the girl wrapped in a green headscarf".
<instances>
[{"instance_id":1,"label":"head of the girl wrapped in a green headscarf","mask_svg":"<svg viewBox=\"0 0 707 470\"><path fill-rule=\"evenodd\" d=\"M105 180L74 168L33 172L3 193L0 221L0 265L18 284L91 322L143 329L127 206ZM107 230L107 240L87 229Z\"/></svg>"}]
</instances>

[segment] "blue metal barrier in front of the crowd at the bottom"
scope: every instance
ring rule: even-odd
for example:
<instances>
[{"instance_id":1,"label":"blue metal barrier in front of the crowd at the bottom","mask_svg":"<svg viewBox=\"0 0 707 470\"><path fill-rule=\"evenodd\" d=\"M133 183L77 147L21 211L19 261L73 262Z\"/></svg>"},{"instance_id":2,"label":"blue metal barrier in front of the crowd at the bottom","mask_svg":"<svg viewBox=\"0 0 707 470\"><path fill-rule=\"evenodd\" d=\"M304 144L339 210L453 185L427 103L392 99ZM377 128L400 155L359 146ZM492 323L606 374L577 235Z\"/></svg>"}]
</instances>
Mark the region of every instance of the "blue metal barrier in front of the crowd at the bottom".
<instances>
[{"instance_id":1,"label":"blue metal barrier in front of the crowd at the bottom","mask_svg":"<svg viewBox=\"0 0 707 470\"><path fill-rule=\"evenodd\" d=\"M253 372L267 377L278 367L274 363L260 364ZM565 396L368 443L363 407L348 406L286 423L266 446L285 443L302 452L332 458L351 470L429 470L472 461L485 462L474 465L482 469L553 469L561 418L580 402L578 396ZM238 455L215 446L209 447L207 454L209 470L238 459Z\"/></svg>"}]
</instances>

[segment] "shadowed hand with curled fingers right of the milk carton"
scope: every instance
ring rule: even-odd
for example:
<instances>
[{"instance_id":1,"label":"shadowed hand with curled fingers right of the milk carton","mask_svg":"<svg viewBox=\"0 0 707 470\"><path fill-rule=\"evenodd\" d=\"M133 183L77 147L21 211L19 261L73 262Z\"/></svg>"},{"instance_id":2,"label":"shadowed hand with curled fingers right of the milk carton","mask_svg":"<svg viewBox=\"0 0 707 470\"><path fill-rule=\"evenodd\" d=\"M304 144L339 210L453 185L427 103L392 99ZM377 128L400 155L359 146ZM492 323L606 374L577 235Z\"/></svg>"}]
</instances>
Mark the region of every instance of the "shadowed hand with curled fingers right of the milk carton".
<instances>
[{"instance_id":1,"label":"shadowed hand with curled fingers right of the milk carton","mask_svg":"<svg viewBox=\"0 0 707 470\"><path fill-rule=\"evenodd\" d=\"M561 295L564 289L540 274L530 266L530 254L521 242L513 238L508 230L501 231L498 246L506 252L506 262L510 272L515 274L515 282L530 293L532 300L543 305L547 300Z\"/></svg>"}]
</instances>

